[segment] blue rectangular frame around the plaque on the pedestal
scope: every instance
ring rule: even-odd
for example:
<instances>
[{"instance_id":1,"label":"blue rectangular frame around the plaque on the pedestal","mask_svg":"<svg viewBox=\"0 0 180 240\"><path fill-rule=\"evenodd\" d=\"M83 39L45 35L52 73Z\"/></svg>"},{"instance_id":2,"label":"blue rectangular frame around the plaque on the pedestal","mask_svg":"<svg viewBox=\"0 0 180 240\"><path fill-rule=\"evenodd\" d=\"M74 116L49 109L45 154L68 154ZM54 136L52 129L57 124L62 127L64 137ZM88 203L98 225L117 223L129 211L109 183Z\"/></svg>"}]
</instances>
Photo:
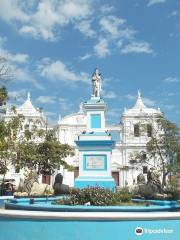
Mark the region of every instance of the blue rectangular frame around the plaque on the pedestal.
<instances>
[{"instance_id":1,"label":"blue rectangular frame around the plaque on the pedestal","mask_svg":"<svg viewBox=\"0 0 180 240\"><path fill-rule=\"evenodd\" d=\"M103 161L102 168L87 168L88 157L102 157L100 160ZM86 154L83 156L83 171L106 171L107 170L107 156L105 154Z\"/></svg>"}]
</instances>

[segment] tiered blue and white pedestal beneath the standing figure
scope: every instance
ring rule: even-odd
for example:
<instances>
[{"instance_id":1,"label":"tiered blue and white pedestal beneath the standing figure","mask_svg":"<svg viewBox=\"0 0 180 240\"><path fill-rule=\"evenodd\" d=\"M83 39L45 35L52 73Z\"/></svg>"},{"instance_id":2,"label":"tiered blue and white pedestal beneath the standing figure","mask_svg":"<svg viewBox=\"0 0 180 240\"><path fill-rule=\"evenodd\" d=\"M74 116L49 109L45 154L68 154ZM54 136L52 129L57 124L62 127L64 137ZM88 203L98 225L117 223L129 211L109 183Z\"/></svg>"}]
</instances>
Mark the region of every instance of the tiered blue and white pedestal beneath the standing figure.
<instances>
[{"instance_id":1,"label":"tiered blue and white pedestal beneath the standing figure","mask_svg":"<svg viewBox=\"0 0 180 240\"><path fill-rule=\"evenodd\" d=\"M75 187L99 186L114 190L111 153L115 143L105 131L106 105L100 98L91 98L84 103L83 109L87 114L88 130L75 141L79 150L79 177L75 179Z\"/></svg>"}]
</instances>

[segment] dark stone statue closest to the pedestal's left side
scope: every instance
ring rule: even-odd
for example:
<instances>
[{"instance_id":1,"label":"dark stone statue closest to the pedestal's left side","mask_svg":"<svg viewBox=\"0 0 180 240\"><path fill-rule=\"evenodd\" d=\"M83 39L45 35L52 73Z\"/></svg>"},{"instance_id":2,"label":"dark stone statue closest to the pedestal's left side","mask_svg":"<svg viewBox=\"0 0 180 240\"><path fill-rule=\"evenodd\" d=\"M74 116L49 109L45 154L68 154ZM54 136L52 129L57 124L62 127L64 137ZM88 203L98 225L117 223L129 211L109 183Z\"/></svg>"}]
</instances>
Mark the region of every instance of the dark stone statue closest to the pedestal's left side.
<instances>
[{"instance_id":1,"label":"dark stone statue closest to the pedestal's left side","mask_svg":"<svg viewBox=\"0 0 180 240\"><path fill-rule=\"evenodd\" d=\"M62 182L63 182L63 176L61 173L58 173L55 177L55 182L53 185L55 195L70 193L70 187L68 185L62 184Z\"/></svg>"}]
</instances>

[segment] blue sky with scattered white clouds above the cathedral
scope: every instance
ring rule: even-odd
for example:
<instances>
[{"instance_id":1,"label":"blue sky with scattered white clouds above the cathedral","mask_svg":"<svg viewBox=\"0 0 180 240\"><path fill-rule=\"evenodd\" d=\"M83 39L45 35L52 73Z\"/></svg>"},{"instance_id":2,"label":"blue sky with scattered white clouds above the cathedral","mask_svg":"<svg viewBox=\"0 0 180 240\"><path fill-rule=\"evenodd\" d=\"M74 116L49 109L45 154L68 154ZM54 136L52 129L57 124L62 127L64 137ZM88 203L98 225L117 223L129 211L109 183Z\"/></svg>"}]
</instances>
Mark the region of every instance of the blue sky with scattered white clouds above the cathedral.
<instances>
[{"instance_id":1,"label":"blue sky with scattered white clouds above the cathedral","mask_svg":"<svg viewBox=\"0 0 180 240\"><path fill-rule=\"evenodd\" d=\"M107 121L134 106L180 122L179 0L0 0L0 55L13 79L10 102L31 92L50 124L79 110L101 72Z\"/></svg>"}]
</instances>

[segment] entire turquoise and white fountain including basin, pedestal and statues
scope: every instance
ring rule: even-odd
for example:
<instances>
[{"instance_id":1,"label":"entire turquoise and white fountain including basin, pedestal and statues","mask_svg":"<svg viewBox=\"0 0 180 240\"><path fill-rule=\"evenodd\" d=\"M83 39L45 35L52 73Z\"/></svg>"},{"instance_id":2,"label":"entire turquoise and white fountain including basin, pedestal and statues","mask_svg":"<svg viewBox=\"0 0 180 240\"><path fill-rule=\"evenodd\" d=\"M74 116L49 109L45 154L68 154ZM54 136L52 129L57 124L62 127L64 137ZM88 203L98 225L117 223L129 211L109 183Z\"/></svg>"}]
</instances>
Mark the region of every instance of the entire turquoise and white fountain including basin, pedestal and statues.
<instances>
[{"instance_id":1,"label":"entire turquoise and white fountain including basin, pedestal and statues","mask_svg":"<svg viewBox=\"0 0 180 240\"><path fill-rule=\"evenodd\" d=\"M96 70L93 75L93 94L83 107L87 114L87 132L76 141L79 149L80 175L75 187L108 188L115 192L111 177L111 152L114 142L105 130L106 105L100 97L101 79ZM58 175L54 183L55 193L69 193ZM159 181L151 172L148 185L139 176L139 192L147 186L159 191ZM34 180L26 181L23 191L31 192ZM35 185L37 183L35 182ZM34 192L35 193L35 192ZM5 203L0 211L0 239L2 240L179 240L180 203L178 201L146 200L145 205L92 206L52 205L63 196L48 198L19 198ZM144 200L134 199L134 202ZM141 236L141 237L140 237Z\"/></svg>"}]
</instances>

